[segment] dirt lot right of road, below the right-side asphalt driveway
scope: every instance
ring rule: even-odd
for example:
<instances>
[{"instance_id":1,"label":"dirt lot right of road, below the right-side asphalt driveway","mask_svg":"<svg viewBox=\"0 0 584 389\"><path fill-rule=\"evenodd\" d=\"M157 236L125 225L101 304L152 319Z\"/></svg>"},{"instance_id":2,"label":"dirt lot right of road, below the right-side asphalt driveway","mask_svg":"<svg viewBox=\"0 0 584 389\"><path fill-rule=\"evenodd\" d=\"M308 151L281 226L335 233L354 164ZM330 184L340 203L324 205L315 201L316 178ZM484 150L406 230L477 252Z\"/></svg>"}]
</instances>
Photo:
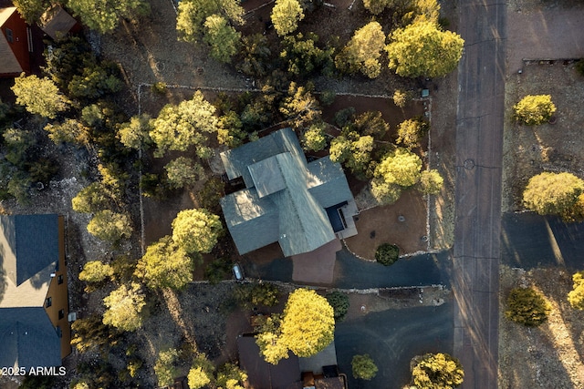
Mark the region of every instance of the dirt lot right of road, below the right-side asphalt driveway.
<instances>
[{"instance_id":1,"label":"dirt lot right of road, below the right-side asphalt driveway","mask_svg":"<svg viewBox=\"0 0 584 389\"><path fill-rule=\"evenodd\" d=\"M533 286L546 296L552 305L547 322L529 329L506 320L506 297L518 286ZM571 288L567 271L501 267L499 388L584 387L584 312L570 307Z\"/></svg>"}]
</instances>

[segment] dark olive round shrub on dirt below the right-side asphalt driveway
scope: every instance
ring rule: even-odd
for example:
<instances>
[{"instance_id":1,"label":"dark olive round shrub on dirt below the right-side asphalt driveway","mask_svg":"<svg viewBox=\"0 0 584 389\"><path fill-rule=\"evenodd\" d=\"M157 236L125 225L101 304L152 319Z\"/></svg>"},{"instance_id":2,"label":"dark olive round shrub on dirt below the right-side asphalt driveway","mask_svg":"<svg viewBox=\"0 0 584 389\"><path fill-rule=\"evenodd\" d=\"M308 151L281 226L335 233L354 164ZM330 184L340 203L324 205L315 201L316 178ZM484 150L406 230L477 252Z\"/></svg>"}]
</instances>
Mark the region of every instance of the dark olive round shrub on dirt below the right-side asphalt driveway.
<instances>
[{"instance_id":1,"label":"dark olive round shrub on dirt below the right-side asphalt driveway","mask_svg":"<svg viewBox=\"0 0 584 389\"><path fill-rule=\"evenodd\" d=\"M516 288L509 292L505 316L508 320L537 327L547 320L551 310L543 295L532 288Z\"/></svg>"}]
</instances>

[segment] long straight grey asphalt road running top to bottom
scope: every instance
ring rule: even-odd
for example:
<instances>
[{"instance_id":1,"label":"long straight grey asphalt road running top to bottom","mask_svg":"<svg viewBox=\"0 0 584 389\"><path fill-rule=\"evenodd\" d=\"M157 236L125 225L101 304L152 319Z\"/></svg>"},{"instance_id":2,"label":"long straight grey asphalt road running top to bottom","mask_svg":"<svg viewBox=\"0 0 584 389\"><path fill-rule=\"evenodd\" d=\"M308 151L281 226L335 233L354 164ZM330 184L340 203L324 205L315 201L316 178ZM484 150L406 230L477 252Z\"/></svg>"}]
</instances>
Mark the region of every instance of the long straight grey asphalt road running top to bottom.
<instances>
[{"instance_id":1,"label":"long straight grey asphalt road running top to bottom","mask_svg":"<svg viewBox=\"0 0 584 389\"><path fill-rule=\"evenodd\" d=\"M497 387L506 3L461 0L453 249L454 355L464 388Z\"/></svg>"}]
</instances>

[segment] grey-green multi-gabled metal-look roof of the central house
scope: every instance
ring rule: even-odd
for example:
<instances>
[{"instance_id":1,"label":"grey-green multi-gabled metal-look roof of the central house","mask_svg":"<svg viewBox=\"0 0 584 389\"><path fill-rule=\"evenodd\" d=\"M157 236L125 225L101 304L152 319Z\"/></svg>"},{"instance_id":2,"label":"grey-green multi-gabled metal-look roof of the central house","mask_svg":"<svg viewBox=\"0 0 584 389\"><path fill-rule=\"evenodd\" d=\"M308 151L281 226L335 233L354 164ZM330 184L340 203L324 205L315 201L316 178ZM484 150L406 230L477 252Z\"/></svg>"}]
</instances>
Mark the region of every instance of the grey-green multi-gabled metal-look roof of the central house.
<instances>
[{"instance_id":1,"label":"grey-green multi-gabled metal-look roof of the central house","mask_svg":"<svg viewBox=\"0 0 584 389\"><path fill-rule=\"evenodd\" d=\"M353 199L347 179L328 157L308 164L291 128L225 151L221 158L229 179L245 181L246 189L221 200L241 254L277 241L289 257L336 238L325 209Z\"/></svg>"}]
</instances>

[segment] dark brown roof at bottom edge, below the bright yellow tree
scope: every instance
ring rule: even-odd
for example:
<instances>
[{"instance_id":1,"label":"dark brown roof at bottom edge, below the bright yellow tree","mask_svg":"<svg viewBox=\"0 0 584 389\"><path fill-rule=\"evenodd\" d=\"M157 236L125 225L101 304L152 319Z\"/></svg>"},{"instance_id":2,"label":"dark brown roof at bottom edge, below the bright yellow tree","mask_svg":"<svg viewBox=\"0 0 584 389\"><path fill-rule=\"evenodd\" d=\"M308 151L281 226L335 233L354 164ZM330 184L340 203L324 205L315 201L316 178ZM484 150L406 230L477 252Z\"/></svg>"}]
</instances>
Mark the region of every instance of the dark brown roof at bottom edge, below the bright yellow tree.
<instances>
[{"instance_id":1,"label":"dark brown roof at bottom edge, below the bright yellow tree","mask_svg":"<svg viewBox=\"0 0 584 389\"><path fill-rule=\"evenodd\" d=\"M267 363L261 357L253 336L237 338L239 364L247 374L250 388L255 389L297 389L302 388L298 357L288 352L288 358L277 364Z\"/></svg>"}]
</instances>

